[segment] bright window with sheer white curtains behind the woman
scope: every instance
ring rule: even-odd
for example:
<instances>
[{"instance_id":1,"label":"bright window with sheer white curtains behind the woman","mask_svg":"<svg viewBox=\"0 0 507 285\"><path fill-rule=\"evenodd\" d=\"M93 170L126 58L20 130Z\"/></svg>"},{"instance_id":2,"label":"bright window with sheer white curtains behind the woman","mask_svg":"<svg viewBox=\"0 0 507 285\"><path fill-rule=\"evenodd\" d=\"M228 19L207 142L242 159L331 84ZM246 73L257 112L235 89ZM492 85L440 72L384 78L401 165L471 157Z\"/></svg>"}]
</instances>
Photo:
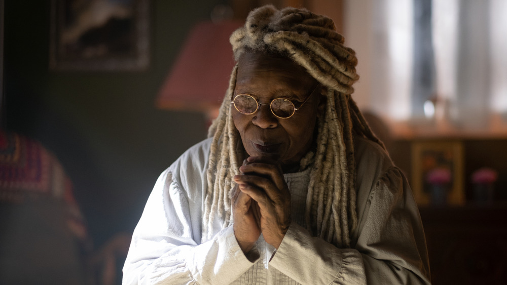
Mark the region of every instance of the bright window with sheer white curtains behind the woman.
<instances>
[{"instance_id":1,"label":"bright window with sheer white curtains behind the woman","mask_svg":"<svg viewBox=\"0 0 507 285\"><path fill-rule=\"evenodd\" d=\"M445 121L452 129L484 130L497 118L507 129L507 1L345 4L346 44L359 59L360 108L411 126Z\"/></svg>"}]
</instances>

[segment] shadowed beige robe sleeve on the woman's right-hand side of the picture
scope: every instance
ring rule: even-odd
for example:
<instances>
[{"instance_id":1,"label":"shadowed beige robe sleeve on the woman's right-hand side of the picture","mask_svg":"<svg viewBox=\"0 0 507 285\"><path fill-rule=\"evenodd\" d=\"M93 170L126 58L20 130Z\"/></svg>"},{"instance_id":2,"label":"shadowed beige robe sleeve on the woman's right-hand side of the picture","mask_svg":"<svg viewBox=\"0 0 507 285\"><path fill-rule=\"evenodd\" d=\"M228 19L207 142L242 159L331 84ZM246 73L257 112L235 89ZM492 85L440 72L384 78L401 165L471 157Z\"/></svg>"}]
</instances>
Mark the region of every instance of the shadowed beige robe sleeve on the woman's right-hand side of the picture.
<instances>
[{"instance_id":1,"label":"shadowed beige robe sleeve on the woman's right-hand side of the picture","mask_svg":"<svg viewBox=\"0 0 507 285\"><path fill-rule=\"evenodd\" d=\"M358 210L358 239L341 249L293 223L270 266L302 284L429 284L422 222L399 169L381 175Z\"/></svg>"}]
</instances>

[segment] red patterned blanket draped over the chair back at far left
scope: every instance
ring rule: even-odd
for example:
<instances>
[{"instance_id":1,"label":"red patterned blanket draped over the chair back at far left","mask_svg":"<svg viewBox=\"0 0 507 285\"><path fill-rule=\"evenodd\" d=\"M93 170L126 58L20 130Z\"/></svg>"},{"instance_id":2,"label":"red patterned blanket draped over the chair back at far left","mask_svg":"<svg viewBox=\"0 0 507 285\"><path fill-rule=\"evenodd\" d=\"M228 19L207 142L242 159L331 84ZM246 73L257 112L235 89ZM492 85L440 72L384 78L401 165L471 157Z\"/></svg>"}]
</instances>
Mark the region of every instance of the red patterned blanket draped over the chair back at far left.
<instances>
[{"instance_id":1,"label":"red patterned blanket draped over the chair back at far left","mask_svg":"<svg viewBox=\"0 0 507 285\"><path fill-rule=\"evenodd\" d=\"M73 184L58 159L39 142L0 131L0 203L53 197L65 205L66 225L78 240L89 242Z\"/></svg>"}]
</instances>

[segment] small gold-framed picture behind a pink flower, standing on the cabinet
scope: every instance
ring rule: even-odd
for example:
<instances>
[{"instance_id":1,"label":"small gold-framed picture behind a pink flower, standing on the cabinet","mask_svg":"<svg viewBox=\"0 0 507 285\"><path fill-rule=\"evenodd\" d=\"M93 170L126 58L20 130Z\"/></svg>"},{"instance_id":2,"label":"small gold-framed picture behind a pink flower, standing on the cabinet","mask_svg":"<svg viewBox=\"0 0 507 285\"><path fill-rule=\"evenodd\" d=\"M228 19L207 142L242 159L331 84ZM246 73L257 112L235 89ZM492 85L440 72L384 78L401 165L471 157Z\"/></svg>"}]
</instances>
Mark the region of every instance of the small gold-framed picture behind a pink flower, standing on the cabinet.
<instances>
[{"instance_id":1,"label":"small gold-framed picture behind a pink flower, standing on the cabinet","mask_svg":"<svg viewBox=\"0 0 507 285\"><path fill-rule=\"evenodd\" d=\"M462 143L412 142L411 186L418 205L463 205Z\"/></svg>"}]
</instances>

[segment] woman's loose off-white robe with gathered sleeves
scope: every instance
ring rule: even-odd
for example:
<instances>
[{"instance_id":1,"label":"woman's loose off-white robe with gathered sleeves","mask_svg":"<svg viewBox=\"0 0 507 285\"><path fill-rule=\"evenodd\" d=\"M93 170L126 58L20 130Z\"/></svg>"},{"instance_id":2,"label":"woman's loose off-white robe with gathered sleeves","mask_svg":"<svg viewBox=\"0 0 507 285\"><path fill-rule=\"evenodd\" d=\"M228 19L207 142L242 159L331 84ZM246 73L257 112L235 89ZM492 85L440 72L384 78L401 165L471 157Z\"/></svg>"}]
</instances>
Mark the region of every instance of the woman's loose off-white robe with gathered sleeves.
<instances>
[{"instance_id":1,"label":"woman's loose off-white robe with gathered sleeves","mask_svg":"<svg viewBox=\"0 0 507 285\"><path fill-rule=\"evenodd\" d=\"M277 251L261 237L250 261L232 226L213 221L202 240L211 140L193 146L164 171L137 224L124 284L429 284L419 212L402 172L375 143L355 138L357 218L352 249L305 229L309 171L284 174L292 223ZM215 217L220 217L216 214Z\"/></svg>"}]
</instances>

